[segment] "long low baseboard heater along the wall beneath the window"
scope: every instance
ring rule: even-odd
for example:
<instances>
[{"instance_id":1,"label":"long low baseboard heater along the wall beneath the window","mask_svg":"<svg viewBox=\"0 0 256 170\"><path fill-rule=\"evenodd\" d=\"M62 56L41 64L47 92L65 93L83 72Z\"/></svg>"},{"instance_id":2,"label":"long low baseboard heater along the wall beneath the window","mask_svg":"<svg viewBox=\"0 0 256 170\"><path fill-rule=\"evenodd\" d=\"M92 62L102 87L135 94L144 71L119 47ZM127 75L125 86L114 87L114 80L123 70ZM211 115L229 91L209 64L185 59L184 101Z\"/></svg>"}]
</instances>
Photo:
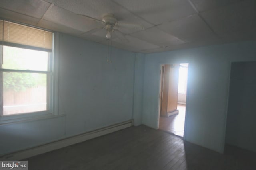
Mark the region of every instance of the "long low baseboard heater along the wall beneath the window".
<instances>
[{"instance_id":1,"label":"long low baseboard heater along the wall beneath the window","mask_svg":"<svg viewBox=\"0 0 256 170\"><path fill-rule=\"evenodd\" d=\"M56 150L56 149L60 149L63 147L67 147L69 145L74 145L76 143L80 143L83 141L87 141L89 139L93 139L96 137L100 137L102 135L106 135L108 133L112 133L115 131L119 131L121 129L125 129L128 127L131 127L133 125L133 120L129 120L129 121L125 121L122 123L117 123L114 125L110 125L108 127L104 127L104 128L100 128L100 129L96 129L94 131L90 131L87 133L82 133L80 135L76 135L73 137L68 137L65 139L61 139L58 141L54 141L51 143L47 143L44 145L40 145L37 147L33 147L30 149L26 149L26 150L22 150L19 152L14 152L11 154L7 154L4 156L0 156L0 160L22 160L22 159L26 159L32 156L36 156L38 154L43 154L46 152L50 152L52 150Z\"/></svg>"}]
</instances>

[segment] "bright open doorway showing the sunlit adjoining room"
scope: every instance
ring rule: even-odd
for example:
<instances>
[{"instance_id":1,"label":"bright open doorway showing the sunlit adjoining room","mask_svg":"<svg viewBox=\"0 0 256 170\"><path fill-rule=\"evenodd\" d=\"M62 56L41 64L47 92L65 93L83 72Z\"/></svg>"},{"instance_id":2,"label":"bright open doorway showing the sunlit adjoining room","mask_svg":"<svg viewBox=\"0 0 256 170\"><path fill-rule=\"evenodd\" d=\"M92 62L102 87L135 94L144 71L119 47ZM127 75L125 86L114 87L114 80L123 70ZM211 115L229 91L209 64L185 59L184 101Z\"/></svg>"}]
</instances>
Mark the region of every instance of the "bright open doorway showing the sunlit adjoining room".
<instances>
[{"instance_id":1,"label":"bright open doorway showing the sunlit adjoining room","mask_svg":"<svg viewBox=\"0 0 256 170\"><path fill-rule=\"evenodd\" d=\"M188 63L161 66L159 129L183 137Z\"/></svg>"}]
</instances>

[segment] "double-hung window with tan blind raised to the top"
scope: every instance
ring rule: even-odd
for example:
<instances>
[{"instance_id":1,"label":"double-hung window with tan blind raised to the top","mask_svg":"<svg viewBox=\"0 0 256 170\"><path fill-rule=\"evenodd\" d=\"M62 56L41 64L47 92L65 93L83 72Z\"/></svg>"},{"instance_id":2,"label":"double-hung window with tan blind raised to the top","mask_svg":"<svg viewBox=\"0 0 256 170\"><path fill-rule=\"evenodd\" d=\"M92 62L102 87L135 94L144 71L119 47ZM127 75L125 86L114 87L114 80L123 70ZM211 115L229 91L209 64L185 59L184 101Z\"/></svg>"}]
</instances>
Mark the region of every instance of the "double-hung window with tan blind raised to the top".
<instances>
[{"instance_id":1,"label":"double-hung window with tan blind raised to the top","mask_svg":"<svg viewBox=\"0 0 256 170\"><path fill-rule=\"evenodd\" d=\"M0 20L0 115L52 109L52 32Z\"/></svg>"}]
</instances>

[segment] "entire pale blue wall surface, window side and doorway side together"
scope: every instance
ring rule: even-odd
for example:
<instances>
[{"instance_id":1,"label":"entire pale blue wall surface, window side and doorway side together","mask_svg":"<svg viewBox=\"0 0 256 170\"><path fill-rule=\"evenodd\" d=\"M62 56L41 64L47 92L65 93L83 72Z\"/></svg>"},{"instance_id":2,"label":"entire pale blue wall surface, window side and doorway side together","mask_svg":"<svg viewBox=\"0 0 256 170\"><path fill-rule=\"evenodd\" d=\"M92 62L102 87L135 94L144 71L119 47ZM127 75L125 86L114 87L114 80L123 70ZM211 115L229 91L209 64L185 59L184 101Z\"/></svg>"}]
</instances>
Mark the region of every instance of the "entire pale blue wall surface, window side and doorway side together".
<instances>
[{"instance_id":1,"label":"entire pale blue wall surface, window side and doorway side together","mask_svg":"<svg viewBox=\"0 0 256 170\"><path fill-rule=\"evenodd\" d=\"M58 35L58 34L56 34ZM0 125L0 155L114 123L158 126L161 64L189 63L186 134L223 152L230 65L256 61L256 42L140 54L60 33L58 113L63 116Z\"/></svg>"}]
</instances>

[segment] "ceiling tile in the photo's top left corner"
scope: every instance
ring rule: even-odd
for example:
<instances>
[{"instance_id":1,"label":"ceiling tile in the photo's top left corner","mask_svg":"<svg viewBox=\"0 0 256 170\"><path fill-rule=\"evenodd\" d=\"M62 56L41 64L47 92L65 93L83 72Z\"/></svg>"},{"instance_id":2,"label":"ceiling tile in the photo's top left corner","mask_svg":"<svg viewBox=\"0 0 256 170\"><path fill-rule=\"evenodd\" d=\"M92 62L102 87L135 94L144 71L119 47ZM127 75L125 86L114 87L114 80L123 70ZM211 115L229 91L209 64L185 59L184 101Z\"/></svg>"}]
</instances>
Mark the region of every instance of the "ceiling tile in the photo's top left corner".
<instances>
[{"instance_id":1,"label":"ceiling tile in the photo's top left corner","mask_svg":"<svg viewBox=\"0 0 256 170\"><path fill-rule=\"evenodd\" d=\"M41 0L1 0L0 3L0 8L34 18L42 18L49 6L50 3Z\"/></svg>"}]
</instances>

